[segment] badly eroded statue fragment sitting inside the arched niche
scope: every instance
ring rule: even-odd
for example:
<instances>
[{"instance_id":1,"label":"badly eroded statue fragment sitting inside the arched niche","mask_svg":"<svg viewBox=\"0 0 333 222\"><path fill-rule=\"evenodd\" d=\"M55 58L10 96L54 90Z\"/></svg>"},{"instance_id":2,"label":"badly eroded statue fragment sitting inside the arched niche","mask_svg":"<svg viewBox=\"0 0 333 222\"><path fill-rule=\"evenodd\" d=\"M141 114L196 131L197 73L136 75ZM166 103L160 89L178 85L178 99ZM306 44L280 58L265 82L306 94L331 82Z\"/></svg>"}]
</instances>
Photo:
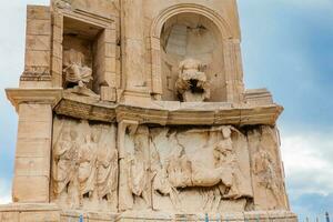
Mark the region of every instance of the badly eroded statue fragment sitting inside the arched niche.
<instances>
[{"instance_id":1,"label":"badly eroded statue fragment sitting inside the arched niche","mask_svg":"<svg viewBox=\"0 0 333 222\"><path fill-rule=\"evenodd\" d=\"M210 83L201 61L185 59L180 62L179 69L175 90L181 101L203 102L210 99Z\"/></svg>"}]
</instances>

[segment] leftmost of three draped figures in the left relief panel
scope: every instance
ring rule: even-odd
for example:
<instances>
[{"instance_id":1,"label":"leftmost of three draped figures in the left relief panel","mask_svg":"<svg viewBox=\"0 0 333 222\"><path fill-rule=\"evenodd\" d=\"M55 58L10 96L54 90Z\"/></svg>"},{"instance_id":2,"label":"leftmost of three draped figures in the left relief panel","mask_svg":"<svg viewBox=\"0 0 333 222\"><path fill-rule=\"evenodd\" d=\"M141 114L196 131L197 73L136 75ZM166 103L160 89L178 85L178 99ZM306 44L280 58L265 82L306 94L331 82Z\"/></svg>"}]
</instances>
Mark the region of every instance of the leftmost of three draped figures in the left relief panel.
<instances>
[{"instance_id":1,"label":"leftmost of three draped figures in the left relief panel","mask_svg":"<svg viewBox=\"0 0 333 222\"><path fill-rule=\"evenodd\" d=\"M75 182L77 138L75 131L64 130L53 147L53 192L58 198L68 199Z\"/></svg>"}]
</instances>

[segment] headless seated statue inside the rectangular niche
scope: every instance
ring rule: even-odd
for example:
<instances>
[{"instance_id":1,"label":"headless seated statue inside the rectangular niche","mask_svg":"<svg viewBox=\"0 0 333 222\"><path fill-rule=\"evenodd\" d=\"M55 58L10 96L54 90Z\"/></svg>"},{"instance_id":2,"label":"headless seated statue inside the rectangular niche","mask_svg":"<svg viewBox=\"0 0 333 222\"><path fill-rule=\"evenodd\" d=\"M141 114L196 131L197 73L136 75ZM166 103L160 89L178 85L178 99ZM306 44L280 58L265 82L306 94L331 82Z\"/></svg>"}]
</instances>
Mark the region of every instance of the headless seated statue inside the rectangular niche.
<instances>
[{"instance_id":1,"label":"headless seated statue inside the rectangular niche","mask_svg":"<svg viewBox=\"0 0 333 222\"><path fill-rule=\"evenodd\" d=\"M74 49L63 52L63 74L64 87L70 92L99 98L92 90L88 88L92 78L92 69L85 64L84 54Z\"/></svg>"}]
</instances>

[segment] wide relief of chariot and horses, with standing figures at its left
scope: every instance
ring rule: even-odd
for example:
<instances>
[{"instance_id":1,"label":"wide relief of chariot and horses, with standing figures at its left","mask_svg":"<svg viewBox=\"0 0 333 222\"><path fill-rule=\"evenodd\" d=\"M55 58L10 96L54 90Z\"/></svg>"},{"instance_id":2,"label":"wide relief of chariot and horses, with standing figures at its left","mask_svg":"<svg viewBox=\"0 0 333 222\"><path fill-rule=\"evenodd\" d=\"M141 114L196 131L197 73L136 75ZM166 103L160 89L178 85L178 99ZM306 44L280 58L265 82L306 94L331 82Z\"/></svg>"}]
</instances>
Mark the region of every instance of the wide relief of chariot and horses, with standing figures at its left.
<instances>
[{"instance_id":1,"label":"wide relief of chariot and horses, with standing figures at its left","mask_svg":"<svg viewBox=\"0 0 333 222\"><path fill-rule=\"evenodd\" d=\"M125 137L132 209L245 210L253 198L246 140L232 127L139 127Z\"/></svg>"}]
</instances>

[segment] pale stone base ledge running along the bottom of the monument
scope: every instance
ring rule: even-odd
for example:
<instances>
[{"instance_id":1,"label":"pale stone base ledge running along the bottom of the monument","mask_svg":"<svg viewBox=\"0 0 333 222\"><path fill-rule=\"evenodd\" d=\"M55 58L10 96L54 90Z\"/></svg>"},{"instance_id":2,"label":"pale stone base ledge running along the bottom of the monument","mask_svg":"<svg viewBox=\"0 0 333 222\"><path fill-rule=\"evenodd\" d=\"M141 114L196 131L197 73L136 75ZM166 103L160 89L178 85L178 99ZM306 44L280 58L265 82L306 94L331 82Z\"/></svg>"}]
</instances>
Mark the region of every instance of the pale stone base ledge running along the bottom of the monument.
<instances>
[{"instance_id":1,"label":"pale stone base ledge running along the bottom of the monument","mask_svg":"<svg viewBox=\"0 0 333 222\"><path fill-rule=\"evenodd\" d=\"M287 211L252 211L224 214L168 214L159 212L101 213L81 210L62 211L56 204L7 204L0 206L1 222L133 222L133 221L281 221L296 222L295 214Z\"/></svg>"}]
</instances>

